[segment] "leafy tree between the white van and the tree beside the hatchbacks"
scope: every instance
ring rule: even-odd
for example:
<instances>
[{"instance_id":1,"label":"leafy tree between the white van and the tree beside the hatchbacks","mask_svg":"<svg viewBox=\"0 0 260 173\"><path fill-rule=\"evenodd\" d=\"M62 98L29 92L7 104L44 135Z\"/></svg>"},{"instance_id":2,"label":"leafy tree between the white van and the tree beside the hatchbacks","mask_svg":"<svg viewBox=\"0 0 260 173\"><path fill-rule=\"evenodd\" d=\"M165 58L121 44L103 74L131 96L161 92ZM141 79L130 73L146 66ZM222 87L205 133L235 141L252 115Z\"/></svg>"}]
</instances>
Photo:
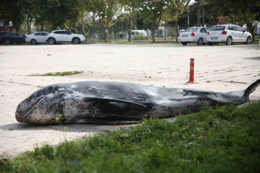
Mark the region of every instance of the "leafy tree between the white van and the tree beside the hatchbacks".
<instances>
[{"instance_id":1,"label":"leafy tree between the white van and the tree beside the hatchbacks","mask_svg":"<svg viewBox=\"0 0 260 173\"><path fill-rule=\"evenodd\" d=\"M139 0L138 11L144 22L151 22L153 43L155 43L155 29L158 28L163 13L168 8L166 0Z\"/></svg>"}]
</instances>

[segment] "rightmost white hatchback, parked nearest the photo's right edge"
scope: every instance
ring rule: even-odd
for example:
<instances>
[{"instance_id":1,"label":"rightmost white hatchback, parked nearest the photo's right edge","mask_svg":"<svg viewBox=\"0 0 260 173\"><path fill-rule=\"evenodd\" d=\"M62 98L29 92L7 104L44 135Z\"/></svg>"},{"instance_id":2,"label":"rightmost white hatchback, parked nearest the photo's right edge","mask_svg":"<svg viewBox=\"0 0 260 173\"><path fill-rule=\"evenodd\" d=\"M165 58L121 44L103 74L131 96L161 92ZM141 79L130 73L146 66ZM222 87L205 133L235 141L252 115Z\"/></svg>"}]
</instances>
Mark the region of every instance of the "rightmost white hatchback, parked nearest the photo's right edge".
<instances>
[{"instance_id":1,"label":"rightmost white hatchback, parked nearest the photo's right edge","mask_svg":"<svg viewBox=\"0 0 260 173\"><path fill-rule=\"evenodd\" d=\"M237 25L216 25L209 30L207 42L209 46L215 43L231 45L233 42L251 44L252 35Z\"/></svg>"}]
</instances>

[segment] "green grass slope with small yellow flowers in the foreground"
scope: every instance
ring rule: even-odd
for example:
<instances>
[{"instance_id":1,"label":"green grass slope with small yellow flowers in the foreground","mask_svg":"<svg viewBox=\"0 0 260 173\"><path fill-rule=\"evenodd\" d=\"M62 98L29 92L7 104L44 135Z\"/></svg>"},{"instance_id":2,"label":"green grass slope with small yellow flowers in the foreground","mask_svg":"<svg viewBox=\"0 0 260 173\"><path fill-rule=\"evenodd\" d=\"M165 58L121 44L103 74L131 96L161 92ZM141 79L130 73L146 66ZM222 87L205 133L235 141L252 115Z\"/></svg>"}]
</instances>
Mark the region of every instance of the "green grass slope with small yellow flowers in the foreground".
<instances>
[{"instance_id":1,"label":"green grass slope with small yellow flowers in the foreground","mask_svg":"<svg viewBox=\"0 0 260 173\"><path fill-rule=\"evenodd\" d=\"M45 145L0 172L259 172L260 102L145 120L85 140Z\"/></svg>"}]
</instances>

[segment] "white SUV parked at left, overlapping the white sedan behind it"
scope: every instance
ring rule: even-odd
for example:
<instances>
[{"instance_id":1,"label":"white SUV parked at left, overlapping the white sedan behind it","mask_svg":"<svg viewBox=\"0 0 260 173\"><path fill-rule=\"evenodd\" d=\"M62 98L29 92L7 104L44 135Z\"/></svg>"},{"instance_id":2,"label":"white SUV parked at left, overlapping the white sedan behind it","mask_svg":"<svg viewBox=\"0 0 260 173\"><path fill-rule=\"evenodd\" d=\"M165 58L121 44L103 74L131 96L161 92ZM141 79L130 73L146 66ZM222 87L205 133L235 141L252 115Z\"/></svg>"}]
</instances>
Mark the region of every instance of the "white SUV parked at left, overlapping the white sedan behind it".
<instances>
[{"instance_id":1,"label":"white SUV parked at left, overlapping the white sedan behind it","mask_svg":"<svg viewBox=\"0 0 260 173\"><path fill-rule=\"evenodd\" d=\"M80 44L81 42L84 42L85 39L86 37L81 34L73 34L67 30L54 30L51 31L51 33L47 34L46 42L48 42L49 44L66 42Z\"/></svg>"}]
</instances>

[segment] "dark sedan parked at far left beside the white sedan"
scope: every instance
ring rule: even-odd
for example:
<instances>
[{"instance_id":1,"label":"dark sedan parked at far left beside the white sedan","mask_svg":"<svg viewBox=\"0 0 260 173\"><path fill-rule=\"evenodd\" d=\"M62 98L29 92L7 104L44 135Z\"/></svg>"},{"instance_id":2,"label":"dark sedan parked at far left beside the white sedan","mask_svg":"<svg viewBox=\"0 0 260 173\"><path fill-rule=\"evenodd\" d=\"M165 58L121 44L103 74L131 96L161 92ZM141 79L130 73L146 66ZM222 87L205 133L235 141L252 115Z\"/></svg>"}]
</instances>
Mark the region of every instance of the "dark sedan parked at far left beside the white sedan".
<instances>
[{"instance_id":1,"label":"dark sedan parked at far left beside the white sedan","mask_svg":"<svg viewBox=\"0 0 260 173\"><path fill-rule=\"evenodd\" d=\"M0 37L1 43L5 44L21 44L25 43L25 35L22 33L10 33Z\"/></svg>"}]
</instances>

